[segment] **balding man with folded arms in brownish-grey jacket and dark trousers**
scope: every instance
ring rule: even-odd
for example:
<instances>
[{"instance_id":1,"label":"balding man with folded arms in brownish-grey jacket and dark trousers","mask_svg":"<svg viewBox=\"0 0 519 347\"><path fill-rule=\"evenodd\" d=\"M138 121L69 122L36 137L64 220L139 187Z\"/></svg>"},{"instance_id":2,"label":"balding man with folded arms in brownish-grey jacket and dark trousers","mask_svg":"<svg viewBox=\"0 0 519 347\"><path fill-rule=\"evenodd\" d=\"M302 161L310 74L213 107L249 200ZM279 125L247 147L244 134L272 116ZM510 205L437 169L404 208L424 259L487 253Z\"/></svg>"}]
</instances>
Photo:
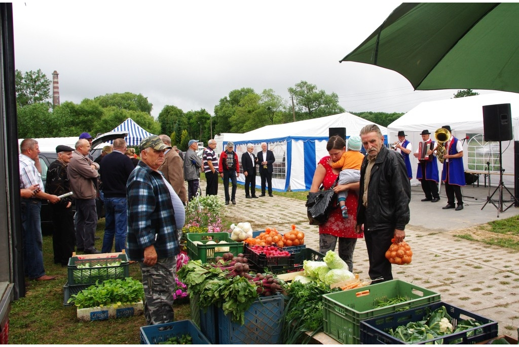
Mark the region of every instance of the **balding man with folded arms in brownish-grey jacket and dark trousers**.
<instances>
[{"instance_id":1,"label":"balding man with folded arms in brownish-grey jacket and dark trousers","mask_svg":"<svg viewBox=\"0 0 519 347\"><path fill-rule=\"evenodd\" d=\"M101 253L94 247L97 228L97 182L99 164L88 158L90 144L82 139L76 142L74 156L69 163L70 186L76 198L76 245L78 251L86 254Z\"/></svg>"}]
</instances>

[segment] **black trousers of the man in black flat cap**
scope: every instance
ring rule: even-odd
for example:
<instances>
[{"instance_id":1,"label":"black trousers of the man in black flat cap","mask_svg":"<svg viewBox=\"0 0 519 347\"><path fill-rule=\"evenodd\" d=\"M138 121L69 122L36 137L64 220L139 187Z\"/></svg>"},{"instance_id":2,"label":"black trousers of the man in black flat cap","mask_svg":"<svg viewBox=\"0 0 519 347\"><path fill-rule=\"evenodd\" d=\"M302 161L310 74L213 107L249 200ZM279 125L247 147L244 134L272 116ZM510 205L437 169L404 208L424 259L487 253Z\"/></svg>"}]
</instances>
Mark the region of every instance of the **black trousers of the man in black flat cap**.
<instances>
[{"instance_id":1,"label":"black trousers of the man in black flat cap","mask_svg":"<svg viewBox=\"0 0 519 347\"><path fill-rule=\"evenodd\" d=\"M54 263L66 266L76 245L74 211L72 207L51 205L52 209L52 250Z\"/></svg>"}]
</instances>

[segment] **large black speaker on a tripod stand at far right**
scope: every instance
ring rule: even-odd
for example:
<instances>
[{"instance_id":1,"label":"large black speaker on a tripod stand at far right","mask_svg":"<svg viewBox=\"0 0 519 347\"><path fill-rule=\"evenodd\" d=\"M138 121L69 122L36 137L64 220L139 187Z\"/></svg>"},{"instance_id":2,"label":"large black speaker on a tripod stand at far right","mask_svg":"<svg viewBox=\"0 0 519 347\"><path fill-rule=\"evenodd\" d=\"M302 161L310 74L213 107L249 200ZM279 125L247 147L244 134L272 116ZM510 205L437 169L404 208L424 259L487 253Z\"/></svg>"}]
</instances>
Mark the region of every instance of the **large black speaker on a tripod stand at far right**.
<instances>
[{"instance_id":1,"label":"large black speaker on a tripod stand at far right","mask_svg":"<svg viewBox=\"0 0 519 347\"><path fill-rule=\"evenodd\" d=\"M510 104L483 106L483 130L485 141L512 140Z\"/></svg>"}]
</instances>

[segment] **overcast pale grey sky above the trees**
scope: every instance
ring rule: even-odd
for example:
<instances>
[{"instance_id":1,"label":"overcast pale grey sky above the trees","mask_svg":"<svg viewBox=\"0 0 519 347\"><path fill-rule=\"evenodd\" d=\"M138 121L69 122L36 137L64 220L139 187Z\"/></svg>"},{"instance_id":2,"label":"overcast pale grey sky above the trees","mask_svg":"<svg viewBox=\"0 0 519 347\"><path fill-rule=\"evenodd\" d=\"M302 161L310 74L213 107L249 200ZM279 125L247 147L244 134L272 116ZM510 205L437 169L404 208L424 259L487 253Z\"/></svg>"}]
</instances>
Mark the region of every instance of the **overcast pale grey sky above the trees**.
<instances>
[{"instance_id":1,"label":"overcast pale grey sky above the trees","mask_svg":"<svg viewBox=\"0 0 519 347\"><path fill-rule=\"evenodd\" d=\"M231 90L305 80L347 111L407 112L456 90L413 91L400 74L339 63L400 2L38 1L13 4L16 68L59 73L60 101L143 94L158 116L214 106ZM52 90L51 90L52 91ZM481 91L480 91L481 92ZM486 93L486 92L483 92Z\"/></svg>"}]
</instances>

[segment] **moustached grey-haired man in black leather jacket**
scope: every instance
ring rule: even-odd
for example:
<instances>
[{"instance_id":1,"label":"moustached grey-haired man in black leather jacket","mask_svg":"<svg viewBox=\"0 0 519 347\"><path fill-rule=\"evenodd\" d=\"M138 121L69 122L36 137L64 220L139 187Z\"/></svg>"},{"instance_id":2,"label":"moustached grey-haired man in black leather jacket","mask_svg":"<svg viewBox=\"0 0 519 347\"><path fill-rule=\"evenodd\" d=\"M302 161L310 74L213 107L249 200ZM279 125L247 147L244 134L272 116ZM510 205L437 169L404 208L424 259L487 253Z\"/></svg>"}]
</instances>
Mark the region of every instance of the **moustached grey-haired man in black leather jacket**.
<instances>
[{"instance_id":1,"label":"moustached grey-haired man in black leather jacket","mask_svg":"<svg viewBox=\"0 0 519 347\"><path fill-rule=\"evenodd\" d=\"M362 128L360 136L367 156L360 170L357 232L364 231L369 275L377 283L393 279L385 255L391 239L400 243L405 238L411 185L402 156L384 146L384 136L375 124Z\"/></svg>"}]
</instances>

